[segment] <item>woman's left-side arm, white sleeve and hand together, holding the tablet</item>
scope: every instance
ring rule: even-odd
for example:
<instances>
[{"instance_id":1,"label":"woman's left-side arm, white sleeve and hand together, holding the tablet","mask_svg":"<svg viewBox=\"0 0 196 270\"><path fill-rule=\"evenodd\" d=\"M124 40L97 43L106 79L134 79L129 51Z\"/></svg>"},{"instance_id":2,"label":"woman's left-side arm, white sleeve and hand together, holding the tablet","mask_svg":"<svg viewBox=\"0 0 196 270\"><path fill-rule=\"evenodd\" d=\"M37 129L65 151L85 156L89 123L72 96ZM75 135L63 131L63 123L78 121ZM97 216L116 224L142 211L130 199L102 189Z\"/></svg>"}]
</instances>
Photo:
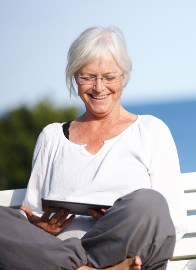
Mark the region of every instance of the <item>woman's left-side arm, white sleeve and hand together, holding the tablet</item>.
<instances>
[{"instance_id":1,"label":"woman's left-side arm, white sleeve and hand together, holding the tablet","mask_svg":"<svg viewBox=\"0 0 196 270\"><path fill-rule=\"evenodd\" d=\"M47 126L41 132L37 140L33 153L31 176L23 206L21 206L21 210L25 212L30 223L44 229L52 235L55 235L65 228L75 217L73 215L67 219L69 211L61 209L50 218L53 209L49 209L45 213L41 209L41 198L45 197L46 192L45 182L47 174L50 175L50 147L53 146L53 136L50 135L53 135L53 129L56 129L56 125L57 124L52 124ZM49 131L47 132L47 130Z\"/></svg>"}]
</instances>

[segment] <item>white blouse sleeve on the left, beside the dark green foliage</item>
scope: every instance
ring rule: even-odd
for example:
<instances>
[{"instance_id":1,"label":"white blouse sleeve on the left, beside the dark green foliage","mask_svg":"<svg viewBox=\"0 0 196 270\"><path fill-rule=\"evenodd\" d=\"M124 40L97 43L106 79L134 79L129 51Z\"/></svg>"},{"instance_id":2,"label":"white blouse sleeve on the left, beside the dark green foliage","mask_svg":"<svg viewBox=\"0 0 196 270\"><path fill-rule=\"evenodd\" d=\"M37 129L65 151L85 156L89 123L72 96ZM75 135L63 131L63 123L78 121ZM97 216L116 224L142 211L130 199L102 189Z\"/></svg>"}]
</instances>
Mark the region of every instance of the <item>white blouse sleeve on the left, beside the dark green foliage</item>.
<instances>
[{"instance_id":1,"label":"white blouse sleeve on the left, beside the dark green foliage","mask_svg":"<svg viewBox=\"0 0 196 270\"><path fill-rule=\"evenodd\" d=\"M23 205L28 206L34 215L42 216L41 198L44 196L44 183L48 171L49 150L45 129L40 133L35 145L32 170L27 185ZM24 214L24 212L22 211Z\"/></svg>"}]
</instances>

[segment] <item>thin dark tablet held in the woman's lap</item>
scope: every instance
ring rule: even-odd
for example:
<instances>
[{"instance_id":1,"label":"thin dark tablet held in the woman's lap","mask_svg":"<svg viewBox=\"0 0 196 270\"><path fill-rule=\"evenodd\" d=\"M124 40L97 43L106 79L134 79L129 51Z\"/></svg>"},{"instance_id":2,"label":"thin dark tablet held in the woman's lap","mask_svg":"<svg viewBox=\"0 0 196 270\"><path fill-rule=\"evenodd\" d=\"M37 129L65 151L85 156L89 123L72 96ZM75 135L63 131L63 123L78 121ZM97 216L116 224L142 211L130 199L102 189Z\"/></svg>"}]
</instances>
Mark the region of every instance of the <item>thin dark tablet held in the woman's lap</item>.
<instances>
[{"instance_id":1,"label":"thin dark tablet held in the woman's lap","mask_svg":"<svg viewBox=\"0 0 196 270\"><path fill-rule=\"evenodd\" d=\"M84 202L71 202L66 200L54 200L42 198L42 211L46 211L50 207L54 207L54 213L58 212L60 208L64 208L70 210L70 214L74 215L82 215L82 216L90 216L88 213L88 209L95 209L99 213L103 214L101 208L110 208L111 205L103 205L103 204L92 204L92 203L84 203Z\"/></svg>"}]
</instances>

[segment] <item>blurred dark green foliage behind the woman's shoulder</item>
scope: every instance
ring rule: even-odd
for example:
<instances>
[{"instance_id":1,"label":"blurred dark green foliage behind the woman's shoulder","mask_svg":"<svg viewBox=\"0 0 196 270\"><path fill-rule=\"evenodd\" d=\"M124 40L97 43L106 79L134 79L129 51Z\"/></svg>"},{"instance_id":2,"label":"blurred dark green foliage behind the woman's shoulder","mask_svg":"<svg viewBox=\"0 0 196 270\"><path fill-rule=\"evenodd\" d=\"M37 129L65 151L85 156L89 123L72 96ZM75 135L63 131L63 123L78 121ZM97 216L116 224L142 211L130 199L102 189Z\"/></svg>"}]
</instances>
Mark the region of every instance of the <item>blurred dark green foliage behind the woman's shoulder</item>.
<instances>
[{"instance_id":1,"label":"blurred dark green foliage behind the woman's shoulder","mask_svg":"<svg viewBox=\"0 0 196 270\"><path fill-rule=\"evenodd\" d=\"M76 108L54 108L48 100L32 109L23 106L0 119L0 190L25 188L31 172L33 150L42 129L78 116Z\"/></svg>"}]
</instances>

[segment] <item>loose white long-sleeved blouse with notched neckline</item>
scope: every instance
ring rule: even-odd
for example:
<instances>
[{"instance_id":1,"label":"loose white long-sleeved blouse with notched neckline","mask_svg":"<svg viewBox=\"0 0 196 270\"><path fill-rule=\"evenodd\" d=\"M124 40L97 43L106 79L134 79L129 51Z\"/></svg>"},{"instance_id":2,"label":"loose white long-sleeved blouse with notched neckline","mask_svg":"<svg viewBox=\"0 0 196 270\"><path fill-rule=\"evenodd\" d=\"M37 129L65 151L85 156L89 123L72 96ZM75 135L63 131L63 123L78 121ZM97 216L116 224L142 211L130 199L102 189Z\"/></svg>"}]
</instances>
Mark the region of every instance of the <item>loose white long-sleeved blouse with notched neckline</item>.
<instances>
[{"instance_id":1,"label":"loose white long-sleeved blouse with notched neckline","mask_svg":"<svg viewBox=\"0 0 196 270\"><path fill-rule=\"evenodd\" d=\"M46 126L35 146L23 201L35 215L43 214L42 197L112 205L121 196L148 188L165 196L177 240L184 235L186 208L179 161L166 124L153 116L138 116L120 135L105 141L95 155L86 145L69 141L62 125ZM95 222L91 217L76 217L58 237L81 238Z\"/></svg>"}]
</instances>

